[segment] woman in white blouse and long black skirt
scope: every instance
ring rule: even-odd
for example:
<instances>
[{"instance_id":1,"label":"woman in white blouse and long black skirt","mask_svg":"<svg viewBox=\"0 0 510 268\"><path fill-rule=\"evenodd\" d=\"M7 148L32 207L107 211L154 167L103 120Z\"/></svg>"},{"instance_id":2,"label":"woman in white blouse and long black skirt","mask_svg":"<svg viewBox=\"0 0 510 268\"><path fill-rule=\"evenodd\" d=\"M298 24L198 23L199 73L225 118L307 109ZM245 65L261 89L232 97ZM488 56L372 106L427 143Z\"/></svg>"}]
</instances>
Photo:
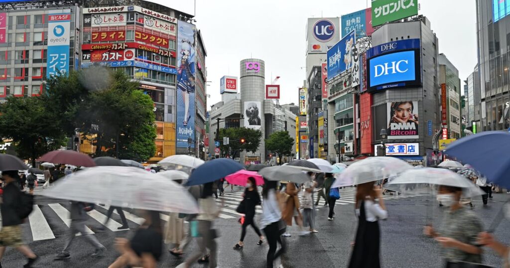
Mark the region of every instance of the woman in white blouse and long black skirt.
<instances>
[{"instance_id":1,"label":"woman in white blouse and long black skirt","mask_svg":"<svg viewBox=\"0 0 510 268\"><path fill-rule=\"evenodd\" d=\"M376 198L379 204L376 204ZM381 189L376 188L374 182L358 185L354 206L360 221L356 231L356 240L349 268L380 267L380 231L378 220L384 220L388 217L386 206L381 197Z\"/></svg>"}]
</instances>

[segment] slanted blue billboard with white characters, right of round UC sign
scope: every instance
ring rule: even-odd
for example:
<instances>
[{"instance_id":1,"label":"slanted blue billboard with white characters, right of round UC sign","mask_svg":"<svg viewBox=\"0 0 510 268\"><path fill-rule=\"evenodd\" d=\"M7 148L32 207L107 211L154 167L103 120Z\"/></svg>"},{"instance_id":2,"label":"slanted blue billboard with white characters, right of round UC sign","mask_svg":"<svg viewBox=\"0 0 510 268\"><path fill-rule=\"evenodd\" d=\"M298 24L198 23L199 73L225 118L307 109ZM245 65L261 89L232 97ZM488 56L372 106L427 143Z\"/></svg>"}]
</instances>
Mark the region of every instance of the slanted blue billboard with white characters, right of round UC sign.
<instances>
[{"instance_id":1,"label":"slanted blue billboard with white characters, right of round UC sign","mask_svg":"<svg viewBox=\"0 0 510 268\"><path fill-rule=\"evenodd\" d=\"M329 80L352 67L352 45L356 43L356 34L350 32L327 51L327 77Z\"/></svg>"}]
</instances>

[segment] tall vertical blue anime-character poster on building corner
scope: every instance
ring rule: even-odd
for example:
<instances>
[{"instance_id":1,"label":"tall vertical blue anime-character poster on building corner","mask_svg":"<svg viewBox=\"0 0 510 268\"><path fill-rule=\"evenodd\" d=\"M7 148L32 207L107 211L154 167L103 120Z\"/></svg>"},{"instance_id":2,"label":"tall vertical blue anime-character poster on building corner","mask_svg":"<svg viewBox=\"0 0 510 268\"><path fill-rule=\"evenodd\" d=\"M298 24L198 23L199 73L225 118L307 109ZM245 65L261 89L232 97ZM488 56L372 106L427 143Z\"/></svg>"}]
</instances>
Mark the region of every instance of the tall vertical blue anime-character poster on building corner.
<instances>
[{"instance_id":1,"label":"tall vertical blue anime-character poster on building corner","mask_svg":"<svg viewBox=\"0 0 510 268\"><path fill-rule=\"evenodd\" d=\"M179 21L177 25L177 130L176 147L188 148L188 138L195 139L195 64L196 28ZM194 142L191 148L195 148Z\"/></svg>"}]
</instances>

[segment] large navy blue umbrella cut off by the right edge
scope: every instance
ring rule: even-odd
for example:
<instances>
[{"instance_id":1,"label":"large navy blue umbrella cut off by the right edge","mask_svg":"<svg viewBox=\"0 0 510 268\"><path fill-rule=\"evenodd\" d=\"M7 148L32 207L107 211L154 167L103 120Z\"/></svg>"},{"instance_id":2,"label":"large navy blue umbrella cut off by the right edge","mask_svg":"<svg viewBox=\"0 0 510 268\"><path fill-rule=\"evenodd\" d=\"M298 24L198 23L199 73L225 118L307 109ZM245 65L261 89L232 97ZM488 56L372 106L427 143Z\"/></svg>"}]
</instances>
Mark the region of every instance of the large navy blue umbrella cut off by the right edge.
<instances>
[{"instance_id":1,"label":"large navy blue umbrella cut off by the right edge","mask_svg":"<svg viewBox=\"0 0 510 268\"><path fill-rule=\"evenodd\" d=\"M510 133L486 131L451 143L446 154L473 166L493 183L510 187Z\"/></svg>"}]
</instances>

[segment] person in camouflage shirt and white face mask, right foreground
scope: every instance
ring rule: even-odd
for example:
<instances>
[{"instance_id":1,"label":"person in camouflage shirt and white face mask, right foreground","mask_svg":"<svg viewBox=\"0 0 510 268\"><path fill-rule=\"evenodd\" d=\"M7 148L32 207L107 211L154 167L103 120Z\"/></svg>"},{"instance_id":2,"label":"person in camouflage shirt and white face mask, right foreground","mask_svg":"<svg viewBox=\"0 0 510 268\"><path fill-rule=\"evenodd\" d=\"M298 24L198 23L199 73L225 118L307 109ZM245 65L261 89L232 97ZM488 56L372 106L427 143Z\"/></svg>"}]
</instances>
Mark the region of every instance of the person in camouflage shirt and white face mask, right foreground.
<instances>
[{"instance_id":1,"label":"person in camouflage shirt and white face mask, right foreground","mask_svg":"<svg viewBox=\"0 0 510 268\"><path fill-rule=\"evenodd\" d=\"M462 188L452 186L439 186L437 199L445 211L442 226L436 231L432 226L425 226L423 233L438 241L443 250L445 267L457 267L457 263L481 263L481 249L478 247L477 235L482 230L478 216L466 209L460 202Z\"/></svg>"}]
</instances>

